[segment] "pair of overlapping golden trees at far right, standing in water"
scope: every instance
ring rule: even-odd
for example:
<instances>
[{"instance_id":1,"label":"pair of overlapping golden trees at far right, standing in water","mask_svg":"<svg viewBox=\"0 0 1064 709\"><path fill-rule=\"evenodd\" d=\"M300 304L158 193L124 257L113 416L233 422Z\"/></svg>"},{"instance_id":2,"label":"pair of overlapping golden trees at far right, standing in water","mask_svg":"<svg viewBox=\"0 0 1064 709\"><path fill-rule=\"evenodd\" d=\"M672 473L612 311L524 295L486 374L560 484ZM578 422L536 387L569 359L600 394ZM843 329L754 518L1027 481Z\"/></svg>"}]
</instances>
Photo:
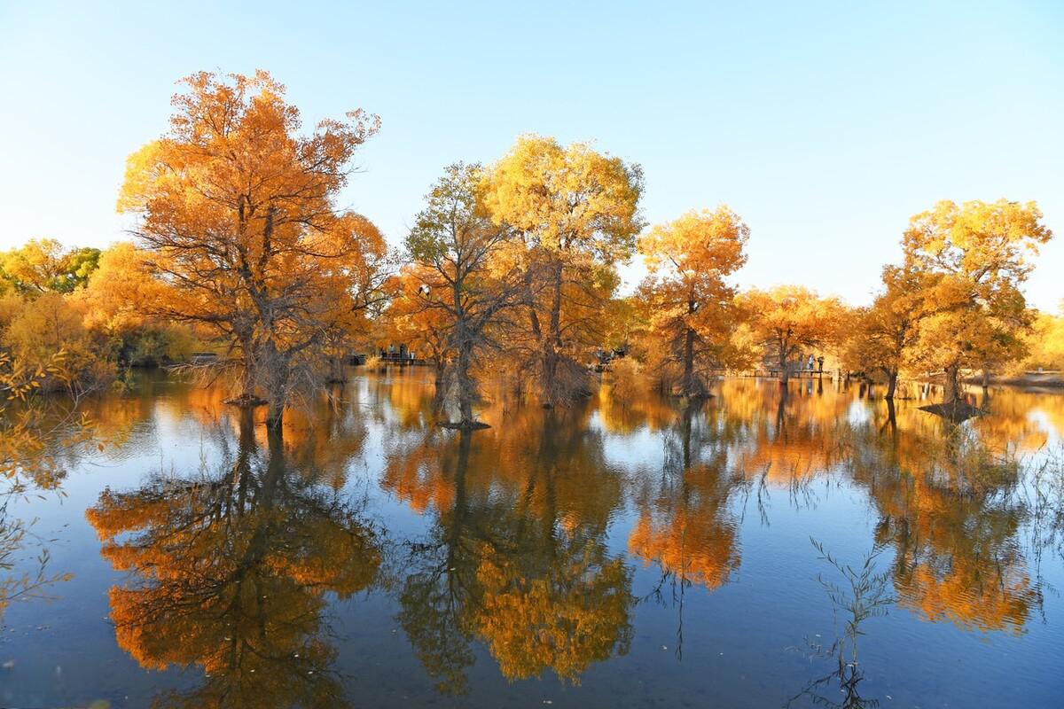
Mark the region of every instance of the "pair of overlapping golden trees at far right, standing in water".
<instances>
[{"instance_id":1,"label":"pair of overlapping golden trees at far right, standing in water","mask_svg":"<svg viewBox=\"0 0 1064 709\"><path fill-rule=\"evenodd\" d=\"M882 291L855 314L846 362L883 372L888 396L902 370L943 372L946 402L960 396L965 371L985 385L1028 354L1037 314L1020 287L1051 236L1033 202L943 201L914 216L901 266L883 269Z\"/></svg>"}]
</instances>

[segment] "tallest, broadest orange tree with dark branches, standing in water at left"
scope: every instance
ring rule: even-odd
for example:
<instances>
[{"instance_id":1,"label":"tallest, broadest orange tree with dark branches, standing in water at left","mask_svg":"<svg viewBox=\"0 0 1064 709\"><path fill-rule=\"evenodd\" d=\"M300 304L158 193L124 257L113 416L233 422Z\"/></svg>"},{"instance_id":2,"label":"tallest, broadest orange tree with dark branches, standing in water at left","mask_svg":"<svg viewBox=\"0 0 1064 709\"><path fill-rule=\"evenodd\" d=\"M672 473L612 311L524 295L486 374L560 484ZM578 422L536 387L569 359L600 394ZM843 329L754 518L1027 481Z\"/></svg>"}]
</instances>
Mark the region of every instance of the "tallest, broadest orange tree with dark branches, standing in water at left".
<instances>
[{"instance_id":1,"label":"tallest, broadest orange tree with dark branches, standing in water at left","mask_svg":"<svg viewBox=\"0 0 1064 709\"><path fill-rule=\"evenodd\" d=\"M172 291L153 311L211 328L240 371L237 402L269 403L280 427L292 391L356 303L348 270L366 263L365 220L336 195L378 129L361 111L300 130L267 72L183 80L170 131L128 162L118 208Z\"/></svg>"}]
</instances>

